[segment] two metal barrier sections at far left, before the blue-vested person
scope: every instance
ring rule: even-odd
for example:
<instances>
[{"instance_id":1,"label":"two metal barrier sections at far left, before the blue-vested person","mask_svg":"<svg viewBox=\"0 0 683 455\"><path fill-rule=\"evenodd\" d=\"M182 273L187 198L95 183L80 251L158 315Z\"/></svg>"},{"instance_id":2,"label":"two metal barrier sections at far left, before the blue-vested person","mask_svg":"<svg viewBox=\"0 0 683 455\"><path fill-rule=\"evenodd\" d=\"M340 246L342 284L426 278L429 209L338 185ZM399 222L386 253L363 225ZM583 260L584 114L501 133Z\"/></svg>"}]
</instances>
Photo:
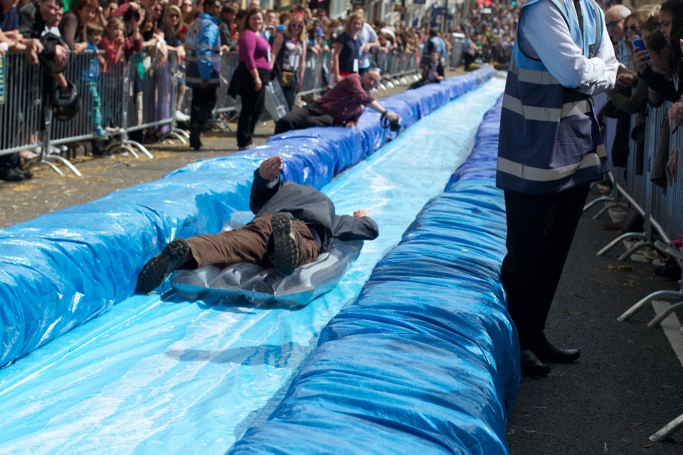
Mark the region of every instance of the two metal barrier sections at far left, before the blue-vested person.
<instances>
[{"instance_id":1,"label":"two metal barrier sections at far left, before the blue-vested person","mask_svg":"<svg viewBox=\"0 0 683 455\"><path fill-rule=\"evenodd\" d=\"M103 54L103 51L97 51ZM102 127L110 127L110 136L118 136L107 149L128 151L138 157L137 150L153 158L147 148L128 139L127 134L141 129L157 128L186 143L186 133L175 128L177 70L176 55L162 61L157 54L137 53L127 63L109 64L97 80L89 76L92 50L81 55L70 53L65 77L80 94L80 110L68 122L53 119L52 109L44 94L48 75L40 65L31 67L24 55L5 55L6 97L0 105L0 155L41 146L38 162L63 172L51 161L60 161L80 176L68 159L55 146L95 139L93 116L95 91L100 97ZM46 79L46 80L44 80ZM49 82L49 80L48 80ZM50 82L51 83L51 82Z\"/></svg>"}]
</instances>

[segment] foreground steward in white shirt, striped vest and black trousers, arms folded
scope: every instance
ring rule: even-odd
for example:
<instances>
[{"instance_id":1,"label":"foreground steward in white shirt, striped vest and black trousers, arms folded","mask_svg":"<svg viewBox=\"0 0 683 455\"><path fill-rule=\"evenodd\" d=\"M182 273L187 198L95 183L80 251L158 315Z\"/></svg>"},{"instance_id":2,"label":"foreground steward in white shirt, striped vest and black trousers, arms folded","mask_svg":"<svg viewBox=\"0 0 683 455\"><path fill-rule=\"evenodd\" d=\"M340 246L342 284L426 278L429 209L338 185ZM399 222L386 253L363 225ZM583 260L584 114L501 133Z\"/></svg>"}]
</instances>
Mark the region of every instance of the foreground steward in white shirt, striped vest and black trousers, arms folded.
<instances>
[{"instance_id":1,"label":"foreground steward in white shirt, striped vest and black trousers, arms folded","mask_svg":"<svg viewBox=\"0 0 683 455\"><path fill-rule=\"evenodd\" d=\"M592 95L618 62L593 0L529 0L519 14L500 121L496 185L505 193L501 280L519 336L521 370L576 360L546 340L548 311L590 183L607 171Z\"/></svg>"}]
</instances>

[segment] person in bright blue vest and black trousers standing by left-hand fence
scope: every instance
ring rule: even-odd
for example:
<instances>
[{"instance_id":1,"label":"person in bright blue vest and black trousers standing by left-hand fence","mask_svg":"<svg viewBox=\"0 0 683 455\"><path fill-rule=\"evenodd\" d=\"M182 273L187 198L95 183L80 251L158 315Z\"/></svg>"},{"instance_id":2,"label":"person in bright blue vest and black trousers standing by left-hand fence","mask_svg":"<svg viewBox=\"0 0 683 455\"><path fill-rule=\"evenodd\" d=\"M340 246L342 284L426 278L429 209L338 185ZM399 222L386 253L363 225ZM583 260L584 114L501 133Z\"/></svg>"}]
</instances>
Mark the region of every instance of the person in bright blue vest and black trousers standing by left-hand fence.
<instances>
[{"instance_id":1,"label":"person in bright blue vest and black trousers standing by left-hand fence","mask_svg":"<svg viewBox=\"0 0 683 455\"><path fill-rule=\"evenodd\" d=\"M185 38L186 77L192 88L190 146L201 148L199 134L216 105L216 89L221 82L221 39L218 34L219 0L204 1L204 11L190 26Z\"/></svg>"}]
</instances>

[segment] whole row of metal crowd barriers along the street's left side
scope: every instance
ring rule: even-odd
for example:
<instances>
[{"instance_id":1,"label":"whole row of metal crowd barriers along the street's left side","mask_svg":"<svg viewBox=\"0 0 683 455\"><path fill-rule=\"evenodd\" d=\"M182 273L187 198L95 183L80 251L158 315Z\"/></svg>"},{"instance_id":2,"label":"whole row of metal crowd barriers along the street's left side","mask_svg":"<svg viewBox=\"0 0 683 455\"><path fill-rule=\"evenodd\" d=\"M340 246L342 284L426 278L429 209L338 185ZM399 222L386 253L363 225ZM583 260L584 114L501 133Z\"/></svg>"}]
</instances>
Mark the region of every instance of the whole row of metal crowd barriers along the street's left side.
<instances>
[{"instance_id":1,"label":"whole row of metal crowd barriers along the street's left side","mask_svg":"<svg viewBox=\"0 0 683 455\"><path fill-rule=\"evenodd\" d=\"M60 161L80 176L78 169L63 156L63 149L58 146L97 139L92 127L95 115L92 85L101 100L102 127L111 137L107 143L108 151L127 151L135 157L143 153L152 158L140 141L129 137L142 130L151 130L157 137L174 137L187 143L186 131L176 127L176 101L182 72L174 53L169 53L167 59L160 55L152 57L147 53L135 53L127 62L108 64L95 81L85 77L95 58L93 51L71 54L65 77L73 82L80 94L80 112L68 122L53 119L48 105L49 95L43 92L45 82L40 65L28 65L25 56L19 54L7 54L3 58L6 101L0 105L0 155L23 149L38 151L39 147L41 157L38 162L63 175L54 164ZM455 68L460 65L461 58L462 42L456 41L446 55L445 66ZM420 77L419 52L401 54L396 50L388 53L373 50L370 59L383 75L381 89ZM222 63L221 85L213 117L223 129L230 129L225 118L240 109L239 98L235 100L228 96L228 85L239 63L238 53L224 53ZM331 88L330 53L308 53L304 64L305 73L298 96L314 98ZM180 110L185 114L190 114L191 93L191 90L186 90L180 103Z\"/></svg>"}]
</instances>

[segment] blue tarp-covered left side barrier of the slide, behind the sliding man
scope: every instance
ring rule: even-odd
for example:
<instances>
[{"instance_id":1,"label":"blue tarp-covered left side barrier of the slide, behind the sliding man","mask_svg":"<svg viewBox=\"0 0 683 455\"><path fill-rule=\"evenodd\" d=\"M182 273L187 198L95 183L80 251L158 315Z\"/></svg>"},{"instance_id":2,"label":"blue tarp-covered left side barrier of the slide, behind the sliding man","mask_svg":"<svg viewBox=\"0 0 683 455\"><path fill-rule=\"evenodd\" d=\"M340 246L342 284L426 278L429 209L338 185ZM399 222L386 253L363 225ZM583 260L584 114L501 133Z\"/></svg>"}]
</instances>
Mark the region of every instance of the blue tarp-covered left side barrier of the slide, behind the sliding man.
<instances>
[{"instance_id":1,"label":"blue tarp-covered left side barrier of the slide, behind the sliding man","mask_svg":"<svg viewBox=\"0 0 683 455\"><path fill-rule=\"evenodd\" d=\"M482 68L448 85L476 87L493 74ZM231 213L248 210L251 176L264 157L282 155L285 178L322 188L375 150L367 147L378 141L364 132L377 129L280 135L0 230L0 367L132 296L142 264L173 238L218 232Z\"/></svg>"}]
</instances>

